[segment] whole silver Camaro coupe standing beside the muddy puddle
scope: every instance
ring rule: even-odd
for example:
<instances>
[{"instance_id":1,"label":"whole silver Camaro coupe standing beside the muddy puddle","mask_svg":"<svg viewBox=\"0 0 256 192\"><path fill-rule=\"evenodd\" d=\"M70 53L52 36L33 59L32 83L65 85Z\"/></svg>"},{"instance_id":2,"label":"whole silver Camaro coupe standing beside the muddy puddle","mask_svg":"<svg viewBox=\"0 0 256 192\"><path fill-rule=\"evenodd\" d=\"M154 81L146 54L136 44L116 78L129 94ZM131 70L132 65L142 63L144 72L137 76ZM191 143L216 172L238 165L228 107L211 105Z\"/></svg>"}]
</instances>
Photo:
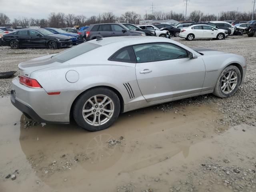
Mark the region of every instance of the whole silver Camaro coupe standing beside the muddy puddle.
<instances>
[{"instance_id":1,"label":"whole silver Camaro coupe standing beside the muddy puddle","mask_svg":"<svg viewBox=\"0 0 256 192\"><path fill-rule=\"evenodd\" d=\"M246 74L242 56L139 36L98 38L18 67L16 108L39 122L74 118L89 131L138 108L209 93L230 97Z\"/></svg>"}]
</instances>

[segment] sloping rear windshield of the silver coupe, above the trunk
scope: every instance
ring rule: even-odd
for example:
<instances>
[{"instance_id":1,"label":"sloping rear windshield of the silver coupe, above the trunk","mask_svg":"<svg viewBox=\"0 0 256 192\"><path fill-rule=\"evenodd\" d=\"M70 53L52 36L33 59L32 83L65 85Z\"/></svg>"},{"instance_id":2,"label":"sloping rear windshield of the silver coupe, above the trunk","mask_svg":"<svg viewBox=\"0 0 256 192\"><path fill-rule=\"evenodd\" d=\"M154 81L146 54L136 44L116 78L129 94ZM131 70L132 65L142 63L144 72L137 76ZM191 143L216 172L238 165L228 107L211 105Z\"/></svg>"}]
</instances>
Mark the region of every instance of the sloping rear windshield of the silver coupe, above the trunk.
<instances>
[{"instance_id":1,"label":"sloping rear windshield of the silver coupe, above the trunk","mask_svg":"<svg viewBox=\"0 0 256 192\"><path fill-rule=\"evenodd\" d=\"M52 56L52 60L56 61L56 62L63 63L63 62L66 62L66 61L68 61L72 58L75 58L79 55L82 55L86 52L94 50L98 47L101 47L101 46L93 44L93 43L84 42L80 45L77 45L73 48L70 48L66 51L60 52L59 54L56 54L56 55Z\"/></svg>"}]
</instances>

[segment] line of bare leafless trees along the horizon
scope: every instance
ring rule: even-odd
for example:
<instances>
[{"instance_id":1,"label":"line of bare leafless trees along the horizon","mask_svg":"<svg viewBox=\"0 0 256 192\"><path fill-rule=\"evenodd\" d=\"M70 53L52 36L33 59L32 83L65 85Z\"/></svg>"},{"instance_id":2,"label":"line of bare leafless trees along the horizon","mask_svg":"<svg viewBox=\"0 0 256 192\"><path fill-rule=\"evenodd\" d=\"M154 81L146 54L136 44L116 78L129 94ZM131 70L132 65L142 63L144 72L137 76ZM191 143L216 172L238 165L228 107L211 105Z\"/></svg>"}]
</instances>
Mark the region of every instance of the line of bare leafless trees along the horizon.
<instances>
[{"instance_id":1,"label":"line of bare leafless trees along the horizon","mask_svg":"<svg viewBox=\"0 0 256 192\"><path fill-rule=\"evenodd\" d=\"M190 13L187 20L200 22L200 21L212 21L212 20L244 20L249 21L252 18L252 12L238 12L238 11L226 11L221 12L220 16L215 14L204 14L200 10L195 10ZM254 13L254 18L256 18L256 13ZM54 27L54 28L64 28L73 26L85 26L95 23L113 23L113 22L128 22L132 24L139 24L140 20L168 20L173 19L177 21L184 21L184 15L182 13L170 12L154 12L153 14L145 14L141 16L133 11L127 11L121 16L116 16L113 12L105 12L98 14L97 16L86 17L82 14L65 14L62 12L49 14L48 18L10 18L4 14L0 13L0 26L5 26L7 24L12 24L14 28L17 26L40 26L44 27Z\"/></svg>"}]
</instances>

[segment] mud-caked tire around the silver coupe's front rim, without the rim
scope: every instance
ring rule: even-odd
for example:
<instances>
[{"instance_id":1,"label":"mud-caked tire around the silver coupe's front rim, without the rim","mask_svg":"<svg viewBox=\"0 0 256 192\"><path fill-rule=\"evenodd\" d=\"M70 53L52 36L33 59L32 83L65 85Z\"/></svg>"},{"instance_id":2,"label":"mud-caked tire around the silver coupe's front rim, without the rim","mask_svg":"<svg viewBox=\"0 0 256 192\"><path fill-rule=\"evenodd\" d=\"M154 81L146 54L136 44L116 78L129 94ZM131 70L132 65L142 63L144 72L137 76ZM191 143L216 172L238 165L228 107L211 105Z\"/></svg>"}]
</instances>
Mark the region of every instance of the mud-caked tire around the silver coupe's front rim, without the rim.
<instances>
[{"instance_id":1,"label":"mud-caked tire around the silver coupe's front rim, without the rim","mask_svg":"<svg viewBox=\"0 0 256 192\"><path fill-rule=\"evenodd\" d=\"M231 80L228 81L226 80L226 76L228 76L229 72L235 72L237 78L237 82L236 82L236 85L234 86L234 89L229 92L229 93L225 93L223 92L223 89L225 88L226 84L228 84L228 82L235 82L234 80L234 76L231 76ZM225 76L225 77L224 77ZM232 78L233 77L233 78ZM233 79L233 80L232 80ZM216 86L214 88L214 92L213 94L217 97L220 97L220 98L227 98L227 97L231 97L235 94L235 92L237 91L239 85L240 85L240 82L241 82L241 73L240 73L240 70L236 67L236 66L233 66L233 65L230 65L230 66L227 66L226 68L224 68L224 70L222 71L222 73L220 74L219 78L218 78L218 81L216 83ZM225 84L226 83L226 84ZM224 85L225 84L225 85ZM231 83L231 86L233 84ZM224 86L224 87L223 87ZM222 88L223 87L223 88ZM231 89L230 89L231 90Z\"/></svg>"}]
</instances>

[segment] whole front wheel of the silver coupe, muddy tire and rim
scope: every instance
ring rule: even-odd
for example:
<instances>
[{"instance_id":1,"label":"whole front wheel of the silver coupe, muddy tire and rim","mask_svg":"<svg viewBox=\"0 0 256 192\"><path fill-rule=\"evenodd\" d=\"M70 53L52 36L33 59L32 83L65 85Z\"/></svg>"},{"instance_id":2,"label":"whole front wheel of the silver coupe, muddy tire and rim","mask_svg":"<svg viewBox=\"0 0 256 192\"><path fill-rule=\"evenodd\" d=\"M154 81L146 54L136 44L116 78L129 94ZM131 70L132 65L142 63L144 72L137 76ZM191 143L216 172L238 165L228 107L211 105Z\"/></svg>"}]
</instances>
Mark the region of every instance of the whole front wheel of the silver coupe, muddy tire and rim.
<instances>
[{"instance_id":1,"label":"whole front wheel of the silver coupe, muddy tire and rim","mask_svg":"<svg viewBox=\"0 0 256 192\"><path fill-rule=\"evenodd\" d=\"M241 82L241 73L236 66L226 67L218 78L213 94L220 98L233 96Z\"/></svg>"}]
</instances>

